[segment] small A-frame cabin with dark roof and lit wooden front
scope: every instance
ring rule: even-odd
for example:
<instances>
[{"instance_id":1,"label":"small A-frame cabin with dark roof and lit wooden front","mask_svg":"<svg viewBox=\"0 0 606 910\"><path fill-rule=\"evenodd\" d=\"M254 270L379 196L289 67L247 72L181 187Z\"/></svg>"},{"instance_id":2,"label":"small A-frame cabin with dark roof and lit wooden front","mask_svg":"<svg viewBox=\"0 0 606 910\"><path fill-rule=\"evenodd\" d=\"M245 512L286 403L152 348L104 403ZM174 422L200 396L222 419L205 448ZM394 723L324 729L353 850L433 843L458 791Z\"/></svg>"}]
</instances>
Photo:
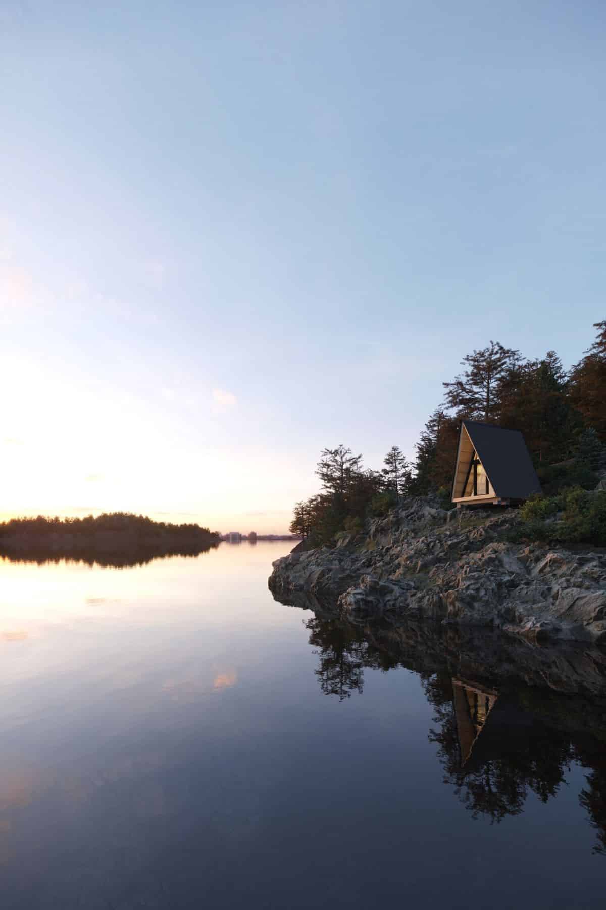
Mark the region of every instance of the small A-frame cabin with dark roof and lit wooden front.
<instances>
[{"instance_id":1,"label":"small A-frame cabin with dark roof and lit wooden front","mask_svg":"<svg viewBox=\"0 0 606 910\"><path fill-rule=\"evenodd\" d=\"M510 505L541 492L520 430L462 420L452 481L452 502Z\"/></svg>"}]
</instances>

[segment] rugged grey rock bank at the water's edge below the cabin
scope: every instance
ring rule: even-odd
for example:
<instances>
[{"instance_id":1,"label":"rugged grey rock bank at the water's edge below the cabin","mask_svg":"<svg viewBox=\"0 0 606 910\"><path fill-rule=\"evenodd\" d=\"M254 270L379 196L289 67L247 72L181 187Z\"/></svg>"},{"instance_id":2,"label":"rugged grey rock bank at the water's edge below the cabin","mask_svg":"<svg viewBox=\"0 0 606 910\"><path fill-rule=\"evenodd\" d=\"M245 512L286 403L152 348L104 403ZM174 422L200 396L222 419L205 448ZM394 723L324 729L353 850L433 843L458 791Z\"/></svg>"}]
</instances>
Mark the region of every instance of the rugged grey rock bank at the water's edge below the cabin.
<instances>
[{"instance_id":1,"label":"rugged grey rock bank at the water's edge below the cabin","mask_svg":"<svg viewBox=\"0 0 606 910\"><path fill-rule=\"evenodd\" d=\"M338 545L273 563L276 600L353 622L428 620L526 641L606 643L606 553L506 541L515 510L404 501Z\"/></svg>"}]
</instances>

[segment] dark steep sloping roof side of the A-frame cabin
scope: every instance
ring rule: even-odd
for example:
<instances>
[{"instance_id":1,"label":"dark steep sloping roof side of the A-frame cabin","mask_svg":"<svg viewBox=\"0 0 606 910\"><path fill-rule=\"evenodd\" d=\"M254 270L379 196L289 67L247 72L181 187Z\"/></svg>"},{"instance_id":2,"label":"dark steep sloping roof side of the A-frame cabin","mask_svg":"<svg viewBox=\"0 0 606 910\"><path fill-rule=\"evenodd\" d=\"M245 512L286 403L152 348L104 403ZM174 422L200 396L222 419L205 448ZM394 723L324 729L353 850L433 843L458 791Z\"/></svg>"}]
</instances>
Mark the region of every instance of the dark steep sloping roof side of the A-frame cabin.
<instances>
[{"instance_id":1,"label":"dark steep sloping roof side of the A-frame cabin","mask_svg":"<svg viewBox=\"0 0 606 910\"><path fill-rule=\"evenodd\" d=\"M541 492L541 483L520 430L504 430L492 423L463 420L472 445L501 499L525 500Z\"/></svg>"}]
</instances>

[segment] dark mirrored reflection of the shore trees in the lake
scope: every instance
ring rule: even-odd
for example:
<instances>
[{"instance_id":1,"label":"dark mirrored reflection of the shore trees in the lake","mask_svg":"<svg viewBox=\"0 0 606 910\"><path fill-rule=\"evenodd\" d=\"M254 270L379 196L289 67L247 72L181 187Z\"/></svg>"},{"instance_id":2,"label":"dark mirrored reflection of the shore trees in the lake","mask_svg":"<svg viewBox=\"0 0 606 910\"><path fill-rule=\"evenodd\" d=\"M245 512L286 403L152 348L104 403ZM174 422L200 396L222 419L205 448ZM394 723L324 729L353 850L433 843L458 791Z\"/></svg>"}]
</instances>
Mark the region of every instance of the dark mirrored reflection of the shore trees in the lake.
<instances>
[{"instance_id":1,"label":"dark mirrored reflection of the shore trees in the lake","mask_svg":"<svg viewBox=\"0 0 606 910\"><path fill-rule=\"evenodd\" d=\"M462 718L457 717L452 669L446 662L435 672L432 655L432 670L423 672L418 653L411 656L398 648L394 636L365 634L360 627L338 619L314 616L305 627L310 632L310 644L317 649L315 673L320 687L327 695L337 695L339 701L354 691L363 693L365 667L387 672L402 666L419 673L434 709L429 739L438 746L443 782L454 788L473 818L483 816L499 823L508 815L522 814L529 794L536 794L542 803L558 794L571 762L588 769L587 785L579 800L597 832L594 851L606 855L606 750L595 736L575 731L573 721L572 732L566 729L571 716L578 716L577 703L572 707L560 705L557 695L550 695L544 703L541 693L522 686L519 692L486 690L491 693L486 701L488 711L480 721L475 719L471 747L468 743L462 747ZM455 684L482 695L481 684ZM549 723L554 700L566 719L561 724L564 729ZM587 708L591 713L589 700Z\"/></svg>"}]
</instances>

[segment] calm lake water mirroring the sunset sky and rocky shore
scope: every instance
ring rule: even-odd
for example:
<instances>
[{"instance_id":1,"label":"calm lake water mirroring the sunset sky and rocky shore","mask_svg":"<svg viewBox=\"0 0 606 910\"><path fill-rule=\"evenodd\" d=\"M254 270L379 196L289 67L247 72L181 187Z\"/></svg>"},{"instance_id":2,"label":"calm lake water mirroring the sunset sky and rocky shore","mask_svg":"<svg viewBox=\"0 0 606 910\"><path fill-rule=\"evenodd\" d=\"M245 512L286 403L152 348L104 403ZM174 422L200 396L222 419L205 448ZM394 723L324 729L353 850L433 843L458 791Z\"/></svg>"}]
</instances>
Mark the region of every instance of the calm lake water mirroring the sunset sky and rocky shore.
<instances>
[{"instance_id":1,"label":"calm lake water mirroring the sunset sky and rocky shore","mask_svg":"<svg viewBox=\"0 0 606 910\"><path fill-rule=\"evenodd\" d=\"M0 560L3 910L601 907L600 698L274 602L288 549Z\"/></svg>"}]
</instances>

